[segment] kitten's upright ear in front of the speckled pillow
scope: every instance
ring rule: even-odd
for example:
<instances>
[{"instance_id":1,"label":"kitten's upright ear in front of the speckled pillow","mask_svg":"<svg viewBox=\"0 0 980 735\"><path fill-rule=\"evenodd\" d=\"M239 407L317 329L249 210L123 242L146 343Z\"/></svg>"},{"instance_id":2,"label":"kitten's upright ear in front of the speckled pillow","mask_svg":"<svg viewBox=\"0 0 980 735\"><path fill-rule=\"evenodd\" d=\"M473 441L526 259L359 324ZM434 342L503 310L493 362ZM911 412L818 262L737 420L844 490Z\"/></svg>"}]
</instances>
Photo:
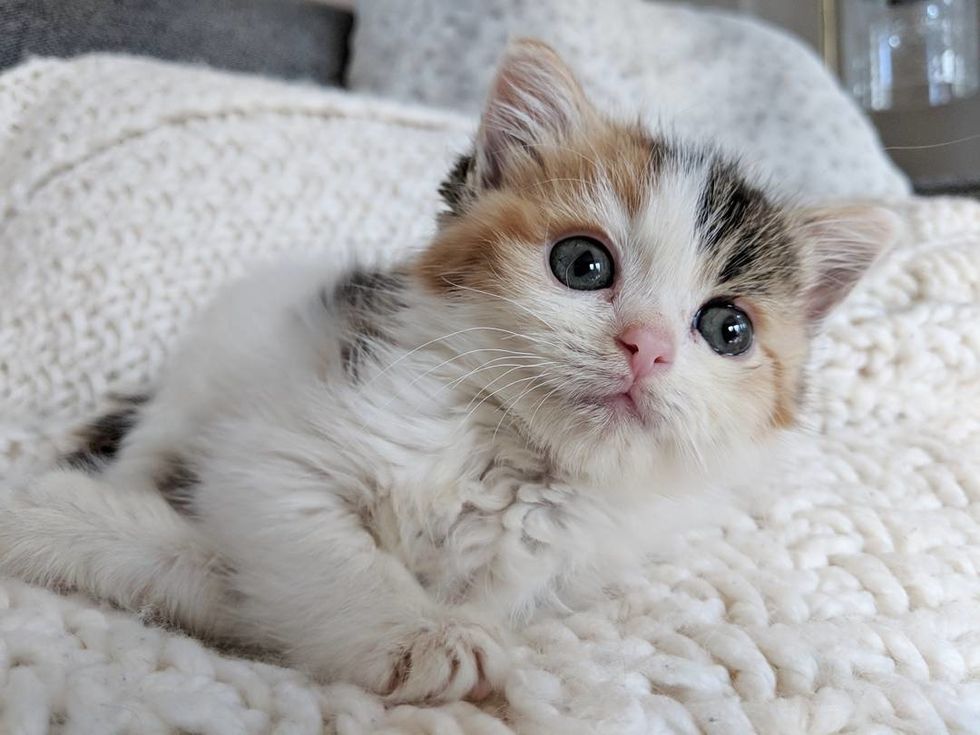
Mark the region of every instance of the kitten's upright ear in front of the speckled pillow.
<instances>
[{"instance_id":1,"label":"kitten's upright ear in front of the speckled pillow","mask_svg":"<svg viewBox=\"0 0 980 735\"><path fill-rule=\"evenodd\" d=\"M540 41L511 42L490 86L476 137L477 184L497 186L508 165L559 142L595 110L572 70Z\"/></svg>"}]
</instances>

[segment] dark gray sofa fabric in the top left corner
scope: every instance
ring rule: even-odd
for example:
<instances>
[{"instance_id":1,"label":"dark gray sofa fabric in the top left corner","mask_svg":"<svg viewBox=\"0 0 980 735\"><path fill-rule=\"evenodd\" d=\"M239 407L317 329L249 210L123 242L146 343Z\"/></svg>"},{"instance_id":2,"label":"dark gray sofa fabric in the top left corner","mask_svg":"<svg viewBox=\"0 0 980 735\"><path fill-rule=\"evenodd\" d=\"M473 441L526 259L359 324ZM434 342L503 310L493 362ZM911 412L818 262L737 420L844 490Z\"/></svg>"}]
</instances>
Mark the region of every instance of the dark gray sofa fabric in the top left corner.
<instances>
[{"instance_id":1,"label":"dark gray sofa fabric in the top left corner","mask_svg":"<svg viewBox=\"0 0 980 735\"><path fill-rule=\"evenodd\" d=\"M304 0L0 0L0 69L125 51L338 84L350 26L349 13Z\"/></svg>"}]
</instances>

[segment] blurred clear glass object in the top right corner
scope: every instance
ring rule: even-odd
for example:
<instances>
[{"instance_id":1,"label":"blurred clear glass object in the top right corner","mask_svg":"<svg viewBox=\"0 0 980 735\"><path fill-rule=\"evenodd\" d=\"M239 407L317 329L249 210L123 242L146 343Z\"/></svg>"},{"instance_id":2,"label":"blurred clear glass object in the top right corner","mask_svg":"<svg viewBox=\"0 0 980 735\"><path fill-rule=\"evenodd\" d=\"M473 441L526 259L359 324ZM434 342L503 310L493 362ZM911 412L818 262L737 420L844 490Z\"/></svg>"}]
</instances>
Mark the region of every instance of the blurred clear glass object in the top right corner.
<instances>
[{"instance_id":1,"label":"blurred clear glass object in the top right corner","mask_svg":"<svg viewBox=\"0 0 980 735\"><path fill-rule=\"evenodd\" d=\"M840 71L867 109L944 105L977 91L977 0L842 0Z\"/></svg>"}]
</instances>

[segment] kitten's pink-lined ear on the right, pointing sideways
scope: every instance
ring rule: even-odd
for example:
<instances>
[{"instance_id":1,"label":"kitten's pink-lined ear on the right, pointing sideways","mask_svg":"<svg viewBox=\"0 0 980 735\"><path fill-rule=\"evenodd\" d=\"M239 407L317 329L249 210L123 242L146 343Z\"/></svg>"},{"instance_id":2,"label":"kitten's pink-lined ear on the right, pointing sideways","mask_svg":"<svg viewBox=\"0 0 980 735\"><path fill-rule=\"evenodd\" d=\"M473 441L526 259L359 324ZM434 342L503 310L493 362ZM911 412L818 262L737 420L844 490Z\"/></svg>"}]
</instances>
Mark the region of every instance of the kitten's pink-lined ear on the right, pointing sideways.
<instances>
[{"instance_id":1,"label":"kitten's pink-lined ear on the right, pointing sideways","mask_svg":"<svg viewBox=\"0 0 980 735\"><path fill-rule=\"evenodd\" d=\"M883 207L853 205L803 213L803 237L811 252L807 317L820 321L901 231L898 216Z\"/></svg>"}]
</instances>

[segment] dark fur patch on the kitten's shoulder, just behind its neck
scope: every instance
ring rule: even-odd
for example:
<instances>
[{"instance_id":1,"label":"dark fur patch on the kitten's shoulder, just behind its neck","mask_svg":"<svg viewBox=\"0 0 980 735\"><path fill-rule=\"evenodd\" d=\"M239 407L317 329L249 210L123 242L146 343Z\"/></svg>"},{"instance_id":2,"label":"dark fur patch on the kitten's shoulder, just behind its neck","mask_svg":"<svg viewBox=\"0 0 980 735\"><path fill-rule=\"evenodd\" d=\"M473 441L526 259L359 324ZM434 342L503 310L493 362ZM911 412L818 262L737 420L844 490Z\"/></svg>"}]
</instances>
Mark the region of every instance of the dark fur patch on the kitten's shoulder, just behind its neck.
<instances>
[{"instance_id":1,"label":"dark fur patch on the kitten's shoulder, just behind its neck","mask_svg":"<svg viewBox=\"0 0 980 735\"><path fill-rule=\"evenodd\" d=\"M355 271L337 284L333 298L345 326L340 342L344 372L354 382L379 344L392 342L392 317L405 308L405 284L401 277L380 271Z\"/></svg>"}]
</instances>

